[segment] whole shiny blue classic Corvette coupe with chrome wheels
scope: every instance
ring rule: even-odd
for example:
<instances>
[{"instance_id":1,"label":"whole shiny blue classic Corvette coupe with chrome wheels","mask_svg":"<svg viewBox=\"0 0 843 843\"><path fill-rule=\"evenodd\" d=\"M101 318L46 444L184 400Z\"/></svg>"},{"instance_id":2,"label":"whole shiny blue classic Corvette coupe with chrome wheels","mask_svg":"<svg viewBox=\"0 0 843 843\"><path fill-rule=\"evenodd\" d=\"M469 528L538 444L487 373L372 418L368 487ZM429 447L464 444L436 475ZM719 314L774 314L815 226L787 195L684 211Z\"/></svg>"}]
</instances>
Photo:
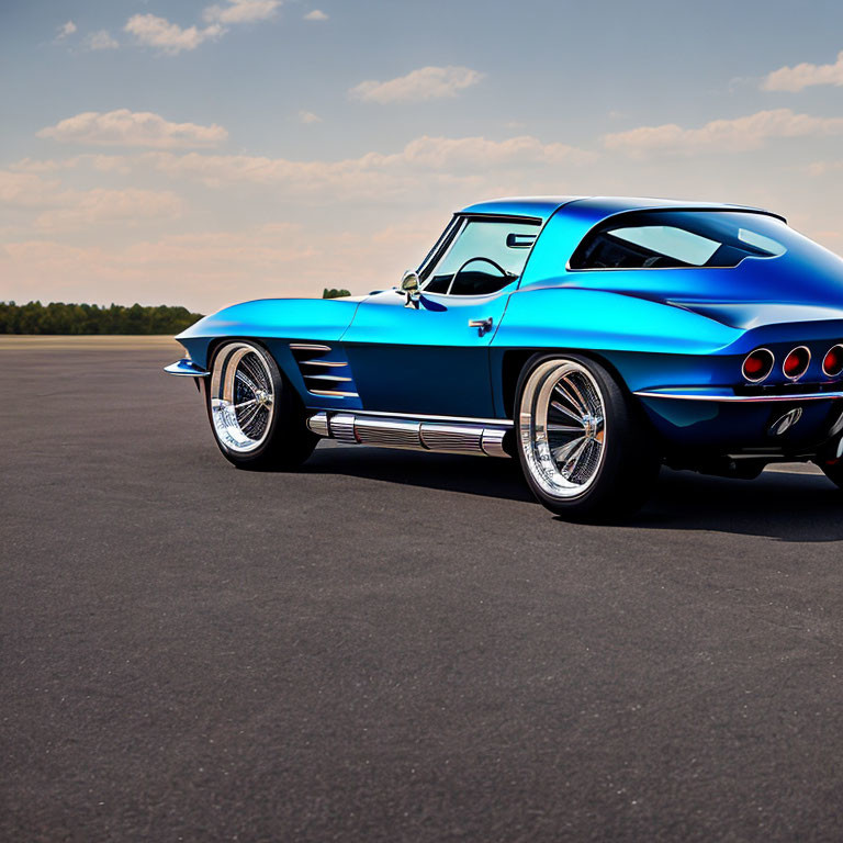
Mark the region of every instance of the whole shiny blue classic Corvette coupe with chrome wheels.
<instances>
[{"instance_id":1,"label":"whole shiny blue classic Corvette coupe with chrome wheels","mask_svg":"<svg viewBox=\"0 0 843 843\"><path fill-rule=\"evenodd\" d=\"M517 457L552 512L634 512L661 464L843 486L843 260L753 207L503 199L454 214L369 295L226 307L177 339L223 454L319 437ZM199 381L196 381L199 385Z\"/></svg>"}]
</instances>

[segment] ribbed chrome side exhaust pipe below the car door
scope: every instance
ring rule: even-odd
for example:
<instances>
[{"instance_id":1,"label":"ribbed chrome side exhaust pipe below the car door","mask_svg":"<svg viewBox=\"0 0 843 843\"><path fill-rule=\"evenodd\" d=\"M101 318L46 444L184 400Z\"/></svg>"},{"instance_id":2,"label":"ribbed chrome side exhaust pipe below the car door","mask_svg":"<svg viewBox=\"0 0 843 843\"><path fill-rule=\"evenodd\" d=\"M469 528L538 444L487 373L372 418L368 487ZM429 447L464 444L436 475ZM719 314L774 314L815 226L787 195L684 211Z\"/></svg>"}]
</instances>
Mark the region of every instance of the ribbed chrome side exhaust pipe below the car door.
<instances>
[{"instance_id":1,"label":"ribbed chrome side exhaust pipe below the car door","mask_svg":"<svg viewBox=\"0 0 843 843\"><path fill-rule=\"evenodd\" d=\"M348 445L404 448L436 453L509 457L504 437L512 423L448 420L321 411L307 419L317 436Z\"/></svg>"}]
</instances>

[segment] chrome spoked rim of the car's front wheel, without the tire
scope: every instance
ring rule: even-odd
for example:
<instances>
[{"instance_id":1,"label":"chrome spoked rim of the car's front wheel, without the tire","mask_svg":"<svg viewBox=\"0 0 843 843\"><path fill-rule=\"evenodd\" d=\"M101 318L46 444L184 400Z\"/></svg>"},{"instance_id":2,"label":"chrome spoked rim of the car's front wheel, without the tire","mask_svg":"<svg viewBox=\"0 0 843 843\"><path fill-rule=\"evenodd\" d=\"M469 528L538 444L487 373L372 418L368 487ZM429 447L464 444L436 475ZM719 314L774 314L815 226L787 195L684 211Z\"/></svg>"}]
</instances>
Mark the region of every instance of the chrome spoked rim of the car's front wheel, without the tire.
<instances>
[{"instance_id":1,"label":"chrome spoked rim of the car's front wheel, without the tire","mask_svg":"<svg viewBox=\"0 0 843 843\"><path fill-rule=\"evenodd\" d=\"M236 453L259 448L276 407L263 352L248 342L225 346L214 359L210 389L211 420L220 443Z\"/></svg>"}]
</instances>

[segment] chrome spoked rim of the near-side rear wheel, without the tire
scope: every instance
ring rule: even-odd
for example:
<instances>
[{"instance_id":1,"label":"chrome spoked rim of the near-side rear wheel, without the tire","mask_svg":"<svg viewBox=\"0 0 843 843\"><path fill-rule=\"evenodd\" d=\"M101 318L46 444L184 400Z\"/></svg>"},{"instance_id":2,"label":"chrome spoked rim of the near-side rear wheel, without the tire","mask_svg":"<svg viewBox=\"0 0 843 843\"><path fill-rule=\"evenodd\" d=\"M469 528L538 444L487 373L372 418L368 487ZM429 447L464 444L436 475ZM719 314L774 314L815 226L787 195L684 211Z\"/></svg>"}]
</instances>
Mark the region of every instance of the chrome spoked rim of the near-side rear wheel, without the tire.
<instances>
[{"instance_id":1,"label":"chrome spoked rim of the near-side rear wheel, without the tire","mask_svg":"<svg viewBox=\"0 0 843 843\"><path fill-rule=\"evenodd\" d=\"M584 495L603 465L606 436L604 396L585 366L555 359L530 373L519 411L520 447L546 495Z\"/></svg>"}]
</instances>

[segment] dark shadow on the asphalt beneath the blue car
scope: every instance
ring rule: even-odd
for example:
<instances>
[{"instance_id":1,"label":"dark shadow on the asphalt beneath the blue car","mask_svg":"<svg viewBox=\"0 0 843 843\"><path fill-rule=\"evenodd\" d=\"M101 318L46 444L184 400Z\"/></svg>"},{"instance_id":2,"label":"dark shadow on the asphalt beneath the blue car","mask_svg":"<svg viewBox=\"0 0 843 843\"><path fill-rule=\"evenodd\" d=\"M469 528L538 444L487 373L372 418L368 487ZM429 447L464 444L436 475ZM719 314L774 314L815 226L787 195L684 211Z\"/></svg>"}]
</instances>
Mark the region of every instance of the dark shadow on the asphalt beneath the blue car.
<instances>
[{"instance_id":1,"label":"dark shadow on the asphalt beneath the blue car","mask_svg":"<svg viewBox=\"0 0 843 843\"><path fill-rule=\"evenodd\" d=\"M517 460L331 442L316 449L306 470L536 503ZM841 541L843 494L820 474L765 472L748 481L663 469L652 499L625 527L711 530L780 541Z\"/></svg>"}]
</instances>

